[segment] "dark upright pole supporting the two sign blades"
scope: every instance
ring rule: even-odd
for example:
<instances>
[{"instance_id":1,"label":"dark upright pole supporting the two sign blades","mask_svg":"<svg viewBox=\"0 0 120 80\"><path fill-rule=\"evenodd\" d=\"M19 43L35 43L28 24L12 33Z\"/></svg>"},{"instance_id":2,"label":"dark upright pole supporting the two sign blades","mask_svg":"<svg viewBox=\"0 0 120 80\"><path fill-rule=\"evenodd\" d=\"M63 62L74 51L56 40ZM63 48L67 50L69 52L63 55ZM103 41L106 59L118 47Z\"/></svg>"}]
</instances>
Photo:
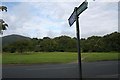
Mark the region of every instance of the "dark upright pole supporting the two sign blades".
<instances>
[{"instance_id":1,"label":"dark upright pole supporting the two sign blades","mask_svg":"<svg viewBox=\"0 0 120 80\"><path fill-rule=\"evenodd\" d=\"M76 31L77 31L77 45L78 45L78 66L79 66L79 73L80 73L80 80L82 80L82 65L81 65L81 49L80 49L80 32L79 32L79 17L77 15L77 7L75 7L76 12Z\"/></svg>"}]
</instances>

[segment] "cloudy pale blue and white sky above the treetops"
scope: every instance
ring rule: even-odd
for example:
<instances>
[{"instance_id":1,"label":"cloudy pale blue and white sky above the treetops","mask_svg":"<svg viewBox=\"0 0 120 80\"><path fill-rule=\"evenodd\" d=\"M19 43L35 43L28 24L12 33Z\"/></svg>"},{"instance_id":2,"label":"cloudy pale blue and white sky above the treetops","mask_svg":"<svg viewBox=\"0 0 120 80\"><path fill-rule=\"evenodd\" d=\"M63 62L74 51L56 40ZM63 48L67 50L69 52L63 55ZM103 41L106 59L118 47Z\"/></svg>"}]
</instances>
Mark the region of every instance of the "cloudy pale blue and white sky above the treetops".
<instances>
[{"instance_id":1,"label":"cloudy pale blue and white sky above the treetops","mask_svg":"<svg viewBox=\"0 0 120 80\"><path fill-rule=\"evenodd\" d=\"M68 24L68 18L80 2L4 2L8 12L2 12L8 23L3 36L19 34L43 38L67 35L76 36L76 25ZM1 18L1 17L0 17ZM88 9L79 16L83 38L103 36L118 31L118 2L89 2Z\"/></svg>"}]
</instances>

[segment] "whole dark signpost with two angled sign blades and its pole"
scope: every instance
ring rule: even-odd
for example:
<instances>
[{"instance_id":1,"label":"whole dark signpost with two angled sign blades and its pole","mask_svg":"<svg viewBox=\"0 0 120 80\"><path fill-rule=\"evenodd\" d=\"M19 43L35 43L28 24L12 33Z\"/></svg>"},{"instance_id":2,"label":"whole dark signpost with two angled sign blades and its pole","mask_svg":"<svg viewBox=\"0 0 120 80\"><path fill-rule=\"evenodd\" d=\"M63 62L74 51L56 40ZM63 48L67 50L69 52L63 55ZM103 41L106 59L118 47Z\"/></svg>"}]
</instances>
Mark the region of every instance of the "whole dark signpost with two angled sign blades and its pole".
<instances>
[{"instance_id":1,"label":"whole dark signpost with two angled sign blades and its pole","mask_svg":"<svg viewBox=\"0 0 120 80\"><path fill-rule=\"evenodd\" d=\"M69 25L72 26L76 21L77 41L78 41L78 64L80 80L82 80L82 64L81 64L81 49L80 49L80 32L79 32L79 15L88 8L88 2L85 0L79 7L75 7L72 15L68 19Z\"/></svg>"}]
</instances>

